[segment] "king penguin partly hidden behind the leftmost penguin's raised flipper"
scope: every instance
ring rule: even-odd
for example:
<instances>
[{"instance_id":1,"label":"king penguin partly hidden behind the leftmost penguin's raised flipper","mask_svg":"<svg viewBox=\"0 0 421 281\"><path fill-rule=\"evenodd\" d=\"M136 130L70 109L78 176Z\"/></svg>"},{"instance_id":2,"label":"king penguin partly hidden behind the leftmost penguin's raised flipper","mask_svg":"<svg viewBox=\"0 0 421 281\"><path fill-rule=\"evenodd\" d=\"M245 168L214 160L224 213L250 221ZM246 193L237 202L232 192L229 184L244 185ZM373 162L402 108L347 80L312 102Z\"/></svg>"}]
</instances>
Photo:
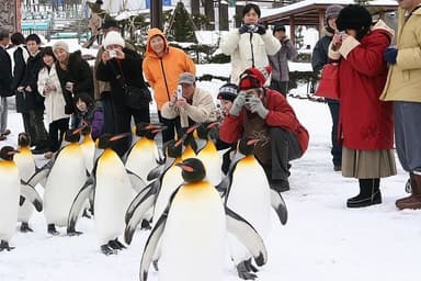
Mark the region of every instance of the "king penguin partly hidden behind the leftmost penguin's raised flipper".
<instances>
[{"instance_id":1,"label":"king penguin partly hidden behind the leftmost penguin's raised flipper","mask_svg":"<svg viewBox=\"0 0 421 281\"><path fill-rule=\"evenodd\" d=\"M18 135L19 154L13 157L19 168L19 173L23 181L29 181L35 173L35 159L31 151L31 136L26 133ZM34 206L29 200L25 200L19 209L18 221L21 222L20 231L22 233L33 232L30 227L30 218L34 213Z\"/></svg>"}]
</instances>

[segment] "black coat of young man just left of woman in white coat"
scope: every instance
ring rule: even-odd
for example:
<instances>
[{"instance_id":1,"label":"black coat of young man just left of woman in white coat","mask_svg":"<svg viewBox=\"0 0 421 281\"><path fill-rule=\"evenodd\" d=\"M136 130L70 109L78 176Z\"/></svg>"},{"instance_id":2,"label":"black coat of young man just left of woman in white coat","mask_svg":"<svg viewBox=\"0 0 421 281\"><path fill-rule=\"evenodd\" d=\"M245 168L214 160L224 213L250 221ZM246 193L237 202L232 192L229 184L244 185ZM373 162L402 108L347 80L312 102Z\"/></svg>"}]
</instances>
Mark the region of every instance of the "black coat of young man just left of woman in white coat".
<instances>
[{"instance_id":1,"label":"black coat of young man just left of woman in white coat","mask_svg":"<svg viewBox=\"0 0 421 281\"><path fill-rule=\"evenodd\" d=\"M43 68L42 50L35 56L30 56L26 61L25 75L20 83L21 87L31 87L32 92L16 93L16 111L29 112L30 110L44 110L44 97L38 92L38 72Z\"/></svg>"}]
</instances>

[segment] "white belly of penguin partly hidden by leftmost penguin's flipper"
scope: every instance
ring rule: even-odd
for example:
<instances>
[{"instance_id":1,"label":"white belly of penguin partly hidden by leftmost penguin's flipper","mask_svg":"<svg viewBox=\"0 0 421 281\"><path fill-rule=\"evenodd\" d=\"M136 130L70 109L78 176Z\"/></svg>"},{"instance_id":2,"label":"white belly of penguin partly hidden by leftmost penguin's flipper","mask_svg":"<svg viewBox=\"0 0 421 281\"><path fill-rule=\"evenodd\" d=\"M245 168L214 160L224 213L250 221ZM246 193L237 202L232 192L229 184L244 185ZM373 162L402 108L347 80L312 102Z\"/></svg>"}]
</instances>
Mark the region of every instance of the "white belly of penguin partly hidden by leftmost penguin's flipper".
<instances>
[{"instance_id":1,"label":"white belly of penguin partly hidden by leftmost penguin's flipper","mask_svg":"<svg viewBox=\"0 0 421 281\"><path fill-rule=\"evenodd\" d=\"M26 150L22 149L21 153L15 154L13 157L13 160L19 168L21 179L24 181L27 181L32 175L35 173L34 157L32 156L31 151ZM25 202L23 202L23 204L19 207L18 221L27 223L34 213L34 205L29 200L25 200Z\"/></svg>"}]
</instances>

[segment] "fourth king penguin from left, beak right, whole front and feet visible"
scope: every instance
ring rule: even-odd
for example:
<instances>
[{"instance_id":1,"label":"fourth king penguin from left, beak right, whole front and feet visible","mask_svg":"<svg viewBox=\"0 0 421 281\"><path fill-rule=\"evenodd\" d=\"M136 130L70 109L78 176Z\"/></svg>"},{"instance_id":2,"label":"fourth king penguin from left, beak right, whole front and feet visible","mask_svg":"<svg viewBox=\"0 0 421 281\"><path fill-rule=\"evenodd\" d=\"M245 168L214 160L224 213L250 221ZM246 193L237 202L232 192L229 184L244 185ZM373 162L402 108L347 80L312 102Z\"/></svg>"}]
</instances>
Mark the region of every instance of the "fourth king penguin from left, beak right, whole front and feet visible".
<instances>
[{"instance_id":1,"label":"fourth king penguin from left, beak right, whole front and feet visible","mask_svg":"<svg viewBox=\"0 0 421 281\"><path fill-rule=\"evenodd\" d=\"M124 138L128 136L129 134L104 134L100 137L98 147L103 149L103 153L96 159L91 177L76 196L68 217L68 227L75 229L83 202L94 192L93 218L104 255L117 254L117 250L125 248L118 241L118 236L124 233L124 215L136 194L123 161L113 150L113 147L123 144Z\"/></svg>"}]
</instances>

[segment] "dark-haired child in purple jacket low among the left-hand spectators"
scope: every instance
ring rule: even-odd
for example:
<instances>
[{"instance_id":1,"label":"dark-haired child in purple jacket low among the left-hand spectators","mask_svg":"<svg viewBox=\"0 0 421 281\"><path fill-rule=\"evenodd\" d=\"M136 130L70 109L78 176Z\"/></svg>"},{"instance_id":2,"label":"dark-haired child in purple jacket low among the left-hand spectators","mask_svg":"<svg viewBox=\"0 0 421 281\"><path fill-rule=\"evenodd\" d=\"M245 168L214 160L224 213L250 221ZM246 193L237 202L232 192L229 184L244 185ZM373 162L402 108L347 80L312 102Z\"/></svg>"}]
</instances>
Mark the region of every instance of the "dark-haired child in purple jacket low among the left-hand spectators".
<instances>
[{"instance_id":1,"label":"dark-haired child in purple jacket low among the left-hand spectators","mask_svg":"<svg viewBox=\"0 0 421 281\"><path fill-rule=\"evenodd\" d=\"M104 113L100 101L94 102L88 93L79 93L75 97L77 109L75 126L90 125L91 135L96 139L104 127Z\"/></svg>"}]
</instances>

